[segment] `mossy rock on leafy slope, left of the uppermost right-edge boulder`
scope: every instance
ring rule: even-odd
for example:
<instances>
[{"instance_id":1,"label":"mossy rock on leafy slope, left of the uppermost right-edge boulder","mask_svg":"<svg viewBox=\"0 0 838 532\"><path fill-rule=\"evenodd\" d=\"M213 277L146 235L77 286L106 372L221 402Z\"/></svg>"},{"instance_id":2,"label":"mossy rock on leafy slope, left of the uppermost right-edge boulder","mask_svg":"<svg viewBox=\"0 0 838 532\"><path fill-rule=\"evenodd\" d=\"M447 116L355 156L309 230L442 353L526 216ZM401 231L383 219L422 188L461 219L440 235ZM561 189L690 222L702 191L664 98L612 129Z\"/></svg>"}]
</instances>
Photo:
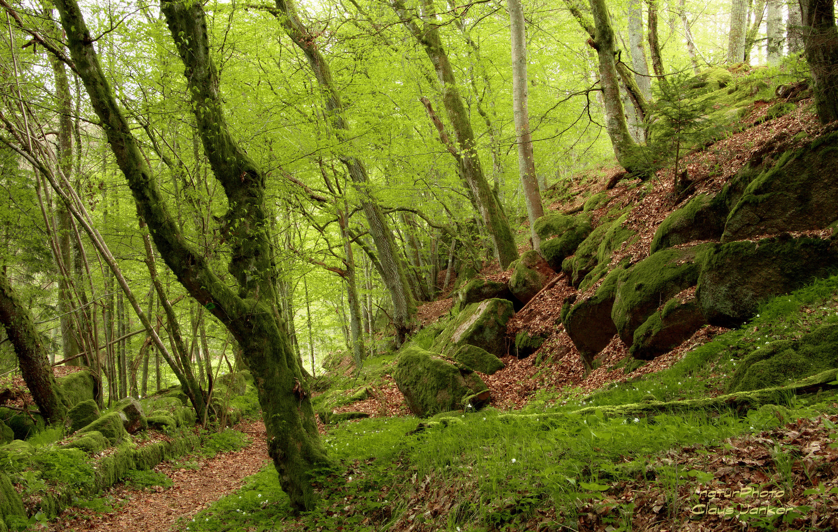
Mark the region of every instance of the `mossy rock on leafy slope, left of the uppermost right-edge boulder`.
<instances>
[{"instance_id":1,"label":"mossy rock on leafy slope, left of the uppermost right-edge boulder","mask_svg":"<svg viewBox=\"0 0 838 532\"><path fill-rule=\"evenodd\" d=\"M718 240L727 219L727 205L708 194L699 194L660 223L654 232L651 253L695 240Z\"/></svg>"}]
</instances>

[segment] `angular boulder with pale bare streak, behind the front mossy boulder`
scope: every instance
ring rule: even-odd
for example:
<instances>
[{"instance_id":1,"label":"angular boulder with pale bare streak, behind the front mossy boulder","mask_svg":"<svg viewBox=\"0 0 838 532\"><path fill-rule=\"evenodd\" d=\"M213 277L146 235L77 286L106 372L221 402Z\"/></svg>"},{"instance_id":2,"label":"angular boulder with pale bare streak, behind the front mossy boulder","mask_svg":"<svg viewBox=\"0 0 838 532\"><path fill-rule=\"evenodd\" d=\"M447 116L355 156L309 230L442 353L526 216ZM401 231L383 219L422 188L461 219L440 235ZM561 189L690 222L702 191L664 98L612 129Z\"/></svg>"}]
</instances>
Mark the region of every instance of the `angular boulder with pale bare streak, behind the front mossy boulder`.
<instances>
[{"instance_id":1,"label":"angular boulder with pale bare streak, behind the front mossy boulder","mask_svg":"<svg viewBox=\"0 0 838 532\"><path fill-rule=\"evenodd\" d=\"M432 349L451 354L461 346L470 344L491 354L506 354L506 322L515 310L508 299L487 299L472 303L448 323L433 342Z\"/></svg>"}]
</instances>

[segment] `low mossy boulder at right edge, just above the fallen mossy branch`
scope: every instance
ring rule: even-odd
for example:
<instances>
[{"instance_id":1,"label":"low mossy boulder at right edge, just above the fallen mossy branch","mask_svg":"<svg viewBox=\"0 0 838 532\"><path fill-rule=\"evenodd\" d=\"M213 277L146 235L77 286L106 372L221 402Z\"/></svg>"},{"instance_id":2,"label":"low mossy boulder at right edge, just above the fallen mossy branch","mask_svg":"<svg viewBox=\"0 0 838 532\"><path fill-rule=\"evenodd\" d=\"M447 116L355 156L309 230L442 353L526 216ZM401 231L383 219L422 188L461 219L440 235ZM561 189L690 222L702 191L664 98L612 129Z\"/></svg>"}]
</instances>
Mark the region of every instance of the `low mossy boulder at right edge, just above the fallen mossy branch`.
<instances>
[{"instance_id":1,"label":"low mossy boulder at right edge, just above the fallen mossy branch","mask_svg":"<svg viewBox=\"0 0 838 532\"><path fill-rule=\"evenodd\" d=\"M838 368L838 323L821 325L799 341L777 340L758 347L739 364L728 390L779 386L833 368Z\"/></svg>"}]
</instances>

